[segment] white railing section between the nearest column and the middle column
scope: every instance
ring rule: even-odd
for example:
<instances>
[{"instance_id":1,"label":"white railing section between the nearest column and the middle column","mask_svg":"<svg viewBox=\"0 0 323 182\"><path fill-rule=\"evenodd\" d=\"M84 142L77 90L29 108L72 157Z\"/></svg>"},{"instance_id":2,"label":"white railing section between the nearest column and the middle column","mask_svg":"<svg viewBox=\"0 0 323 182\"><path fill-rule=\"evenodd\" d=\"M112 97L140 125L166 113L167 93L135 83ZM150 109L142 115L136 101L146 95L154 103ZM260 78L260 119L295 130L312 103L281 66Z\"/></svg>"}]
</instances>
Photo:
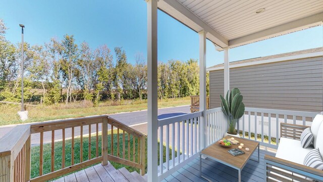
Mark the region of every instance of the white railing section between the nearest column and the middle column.
<instances>
[{"instance_id":1,"label":"white railing section between the nearest column and the middle column","mask_svg":"<svg viewBox=\"0 0 323 182\"><path fill-rule=\"evenodd\" d=\"M201 116L202 112L195 112L158 120L159 181L199 155L200 128L198 122ZM166 143L166 160L164 160L164 143Z\"/></svg>"}]
</instances>

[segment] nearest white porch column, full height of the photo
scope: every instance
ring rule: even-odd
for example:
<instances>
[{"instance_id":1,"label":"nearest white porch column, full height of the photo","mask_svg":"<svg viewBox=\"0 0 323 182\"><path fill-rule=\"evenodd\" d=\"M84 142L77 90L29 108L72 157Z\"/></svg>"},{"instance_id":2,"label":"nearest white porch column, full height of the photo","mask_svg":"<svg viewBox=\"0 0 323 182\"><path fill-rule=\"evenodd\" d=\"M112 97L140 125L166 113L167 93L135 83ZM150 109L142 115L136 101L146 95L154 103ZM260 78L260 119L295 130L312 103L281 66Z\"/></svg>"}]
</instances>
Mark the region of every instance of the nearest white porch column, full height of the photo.
<instances>
[{"instance_id":1,"label":"nearest white porch column, full height of the photo","mask_svg":"<svg viewBox=\"0 0 323 182\"><path fill-rule=\"evenodd\" d=\"M148 148L147 177L156 181L157 173L157 0L147 0L147 93Z\"/></svg>"}]
</instances>

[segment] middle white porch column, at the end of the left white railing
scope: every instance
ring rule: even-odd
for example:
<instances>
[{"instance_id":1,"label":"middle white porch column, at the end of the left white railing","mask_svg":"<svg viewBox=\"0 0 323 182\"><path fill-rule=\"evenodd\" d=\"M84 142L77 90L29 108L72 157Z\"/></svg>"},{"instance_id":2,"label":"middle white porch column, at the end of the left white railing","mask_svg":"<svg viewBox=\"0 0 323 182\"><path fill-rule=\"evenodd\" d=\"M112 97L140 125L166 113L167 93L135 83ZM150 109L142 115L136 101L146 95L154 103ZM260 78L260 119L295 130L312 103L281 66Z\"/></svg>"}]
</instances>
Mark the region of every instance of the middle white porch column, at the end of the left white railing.
<instances>
[{"instance_id":1,"label":"middle white porch column, at the end of the left white railing","mask_svg":"<svg viewBox=\"0 0 323 182\"><path fill-rule=\"evenodd\" d=\"M206 147L205 137L205 121L204 113L206 111L206 31L202 30L198 32L199 35L199 63L200 63L200 98L199 98L199 109L203 111L202 117L200 118L200 149Z\"/></svg>"}]
</instances>

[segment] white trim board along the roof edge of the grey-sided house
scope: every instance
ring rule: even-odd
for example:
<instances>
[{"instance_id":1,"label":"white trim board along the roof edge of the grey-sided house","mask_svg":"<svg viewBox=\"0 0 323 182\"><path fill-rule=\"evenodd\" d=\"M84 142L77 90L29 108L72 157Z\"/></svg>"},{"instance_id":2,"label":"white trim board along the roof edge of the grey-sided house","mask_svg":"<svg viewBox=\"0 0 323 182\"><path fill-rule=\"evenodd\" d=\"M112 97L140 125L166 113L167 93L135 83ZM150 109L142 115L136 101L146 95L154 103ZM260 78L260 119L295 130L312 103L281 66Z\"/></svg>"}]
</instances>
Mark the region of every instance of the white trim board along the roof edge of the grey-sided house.
<instances>
[{"instance_id":1,"label":"white trim board along the roof edge of the grey-sided house","mask_svg":"<svg viewBox=\"0 0 323 182\"><path fill-rule=\"evenodd\" d=\"M285 56L285 57L273 58L273 59L266 59L266 60L260 60L260 61L254 61L254 62L240 63L235 65L230 65L229 67L238 68L238 67L245 67L245 66L251 66L251 65L260 65L260 64L290 61L290 60L297 60L297 59L304 59L304 58L313 58L313 57L319 57L319 56L323 56L323 51L293 55L293 56ZM207 68L206 71L216 71L216 70L223 70L223 69L224 69L224 66L221 66L216 68Z\"/></svg>"}]
</instances>

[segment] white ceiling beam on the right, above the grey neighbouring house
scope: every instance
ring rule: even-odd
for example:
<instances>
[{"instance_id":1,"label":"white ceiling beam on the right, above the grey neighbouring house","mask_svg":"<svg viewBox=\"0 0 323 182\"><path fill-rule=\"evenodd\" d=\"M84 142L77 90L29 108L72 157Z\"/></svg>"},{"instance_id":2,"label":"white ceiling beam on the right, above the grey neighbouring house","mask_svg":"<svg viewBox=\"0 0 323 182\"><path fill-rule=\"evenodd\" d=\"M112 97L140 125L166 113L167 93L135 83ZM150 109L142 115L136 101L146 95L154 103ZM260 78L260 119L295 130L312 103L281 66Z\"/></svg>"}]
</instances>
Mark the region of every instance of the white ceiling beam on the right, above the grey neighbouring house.
<instances>
[{"instance_id":1,"label":"white ceiling beam on the right, above the grey neighbouring house","mask_svg":"<svg viewBox=\"0 0 323 182\"><path fill-rule=\"evenodd\" d=\"M235 48L240 45L245 45L259 40L264 40L264 39L284 35L287 33L299 31L302 29L307 29L310 27L322 25L322 21L323 21L323 13L319 13L319 14L298 19L283 25L269 28L263 31L252 33L250 35L229 40L229 47ZM221 49L217 49L217 50L221 50Z\"/></svg>"}]
</instances>

